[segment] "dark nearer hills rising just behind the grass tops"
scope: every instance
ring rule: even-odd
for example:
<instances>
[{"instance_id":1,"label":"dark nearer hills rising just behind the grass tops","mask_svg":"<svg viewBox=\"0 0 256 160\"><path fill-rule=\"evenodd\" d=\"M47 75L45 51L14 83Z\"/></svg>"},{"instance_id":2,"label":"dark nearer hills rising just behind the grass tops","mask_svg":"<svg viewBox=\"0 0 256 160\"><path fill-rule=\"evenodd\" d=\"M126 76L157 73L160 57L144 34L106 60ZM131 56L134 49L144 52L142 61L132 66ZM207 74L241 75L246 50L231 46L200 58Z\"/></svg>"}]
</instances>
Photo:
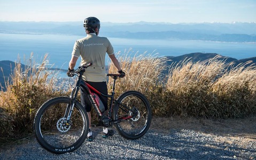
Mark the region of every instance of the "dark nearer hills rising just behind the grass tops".
<instances>
[{"instance_id":1,"label":"dark nearer hills rising just behind the grass tops","mask_svg":"<svg viewBox=\"0 0 256 160\"><path fill-rule=\"evenodd\" d=\"M166 63L167 66L172 65L172 63L177 63L177 62L182 62L184 60L190 60L192 62L204 62L204 61L208 61L214 57L216 57L219 54L216 53L190 53L190 54L184 54L184 55L180 55L177 57L162 57L163 62ZM222 55L220 55L219 60L224 60L225 63L228 64L233 63L234 66L237 66L239 63L245 63L247 61L251 61L251 63L249 65L255 66L256 69L256 57L252 57L252 58L247 58L247 59L241 59L241 60L237 60L235 58L230 58L230 57L224 57ZM12 69L15 67L15 63L12 61L0 61L0 68L3 70L3 73L0 74L0 83L1 85L4 87L4 77L8 77L11 73L12 73ZM22 65L22 68L25 68L25 65ZM66 70L62 70L62 71L66 71ZM168 67L167 69L164 71L164 73L167 73L168 71Z\"/></svg>"}]
</instances>

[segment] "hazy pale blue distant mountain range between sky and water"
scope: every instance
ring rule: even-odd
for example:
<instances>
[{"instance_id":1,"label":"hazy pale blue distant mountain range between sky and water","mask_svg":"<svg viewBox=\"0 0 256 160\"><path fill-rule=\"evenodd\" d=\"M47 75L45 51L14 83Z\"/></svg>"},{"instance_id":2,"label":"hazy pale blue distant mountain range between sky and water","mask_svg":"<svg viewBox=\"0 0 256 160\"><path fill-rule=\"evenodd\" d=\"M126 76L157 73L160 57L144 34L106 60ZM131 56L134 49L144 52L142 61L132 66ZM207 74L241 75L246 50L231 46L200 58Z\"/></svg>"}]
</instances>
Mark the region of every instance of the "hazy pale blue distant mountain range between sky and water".
<instances>
[{"instance_id":1,"label":"hazy pale blue distant mountain range between sky and water","mask_svg":"<svg viewBox=\"0 0 256 160\"><path fill-rule=\"evenodd\" d=\"M0 21L0 33L85 35L83 22ZM189 39L256 43L256 23L111 23L102 22L100 35L134 39Z\"/></svg>"}]
</instances>

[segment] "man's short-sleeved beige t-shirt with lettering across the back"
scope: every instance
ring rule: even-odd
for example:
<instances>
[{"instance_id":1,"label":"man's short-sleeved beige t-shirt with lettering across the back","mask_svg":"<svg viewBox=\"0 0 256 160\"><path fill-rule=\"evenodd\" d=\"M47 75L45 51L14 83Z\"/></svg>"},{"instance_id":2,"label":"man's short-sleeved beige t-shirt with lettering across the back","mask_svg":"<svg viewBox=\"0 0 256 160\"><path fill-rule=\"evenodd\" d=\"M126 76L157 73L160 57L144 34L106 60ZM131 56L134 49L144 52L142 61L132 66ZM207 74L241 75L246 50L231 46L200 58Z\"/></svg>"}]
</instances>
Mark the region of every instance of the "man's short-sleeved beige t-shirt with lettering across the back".
<instances>
[{"instance_id":1,"label":"man's short-sleeved beige t-shirt with lettering across the back","mask_svg":"<svg viewBox=\"0 0 256 160\"><path fill-rule=\"evenodd\" d=\"M83 74L83 78L90 82L105 82L105 55L114 54L113 47L106 37L88 34L87 37L75 42L72 55L81 56L81 65L92 63Z\"/></svg>"}]
</instances>

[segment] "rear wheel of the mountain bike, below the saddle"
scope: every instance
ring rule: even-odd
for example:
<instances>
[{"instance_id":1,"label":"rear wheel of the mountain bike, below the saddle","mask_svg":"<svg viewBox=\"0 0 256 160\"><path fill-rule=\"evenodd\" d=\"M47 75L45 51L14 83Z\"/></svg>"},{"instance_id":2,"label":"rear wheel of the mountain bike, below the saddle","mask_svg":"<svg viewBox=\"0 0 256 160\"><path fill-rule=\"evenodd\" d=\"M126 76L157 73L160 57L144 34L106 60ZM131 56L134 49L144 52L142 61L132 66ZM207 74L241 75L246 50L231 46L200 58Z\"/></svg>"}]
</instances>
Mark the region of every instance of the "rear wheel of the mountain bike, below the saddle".
<instances>
[{"instance_id":1,"label":"rear wheel of the mountain bike, below the saddle","mask_svg":"<svg viewBox=\"0 0 256 160\"><path fill-rule=\"evenodd\" d=\"M152 113L149 101L142 93L128 91L120 95L113 108L115 127L126 139L141 138L150 127Z\"/></svg>"}]
</instances>

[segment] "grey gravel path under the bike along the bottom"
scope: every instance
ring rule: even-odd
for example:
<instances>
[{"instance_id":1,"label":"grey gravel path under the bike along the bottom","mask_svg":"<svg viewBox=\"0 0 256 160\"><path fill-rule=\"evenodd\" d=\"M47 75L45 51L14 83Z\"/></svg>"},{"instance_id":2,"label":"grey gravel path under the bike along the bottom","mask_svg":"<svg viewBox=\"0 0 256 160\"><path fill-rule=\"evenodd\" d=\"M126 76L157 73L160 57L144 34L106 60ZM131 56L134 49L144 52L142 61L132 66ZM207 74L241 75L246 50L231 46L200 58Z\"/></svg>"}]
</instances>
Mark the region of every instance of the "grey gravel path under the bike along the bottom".
<instances>
[{"instance_id":1,"label":"grey gravel path under the bike along the bottom","mask_svg":"<svg viewBox=\"0 0 256 160\"><path fill-rule=\"evenodd\" d=\"M49 153L31 138L22 145L0 149L0 159L256 159L255 139L184 129L150 129L138 140L123 139L118 133L103 139L101 127L93 127L92 131L94 141L85 141L72 153Z\"/></svg>"}]
</instances>

